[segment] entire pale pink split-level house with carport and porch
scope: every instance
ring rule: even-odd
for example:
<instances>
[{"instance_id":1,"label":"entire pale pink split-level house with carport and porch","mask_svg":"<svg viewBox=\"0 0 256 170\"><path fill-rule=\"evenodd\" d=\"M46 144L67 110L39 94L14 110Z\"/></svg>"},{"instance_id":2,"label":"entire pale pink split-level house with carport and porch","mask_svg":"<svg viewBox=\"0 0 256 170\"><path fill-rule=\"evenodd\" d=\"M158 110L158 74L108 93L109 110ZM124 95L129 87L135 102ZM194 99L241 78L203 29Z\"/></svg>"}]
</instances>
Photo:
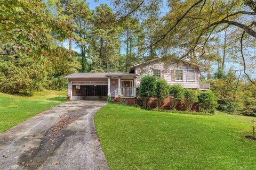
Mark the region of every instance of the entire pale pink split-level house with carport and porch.
<instances>
[{"instance_id":1,"label":"entire pale pink split-level house with carport and porch","mask_svg":"<svg viewBox=\"0 0 256 170\"><path fill-rule=\"evenodd\" d=\"M209 90L209 83L199 83L203 66L179 58L164 61L157 58L131 67L129 73L74 73L67 75L68 99L106 99L137 97L140 79L149 74L163 78L169 84L184 88Z\"/></svg>"}]
</instances>

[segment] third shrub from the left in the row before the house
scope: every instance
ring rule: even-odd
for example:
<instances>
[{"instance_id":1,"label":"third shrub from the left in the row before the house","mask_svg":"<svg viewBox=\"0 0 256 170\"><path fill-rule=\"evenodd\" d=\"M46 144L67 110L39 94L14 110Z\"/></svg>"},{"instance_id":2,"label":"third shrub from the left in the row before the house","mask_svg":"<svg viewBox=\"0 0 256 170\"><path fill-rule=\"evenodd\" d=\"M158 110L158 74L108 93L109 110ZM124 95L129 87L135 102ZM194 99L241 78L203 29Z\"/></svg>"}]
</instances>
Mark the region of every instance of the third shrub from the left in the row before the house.
<instances>
[{"instance_id":1,"label":"third shrub from the left in the row before the house","mask_svg":"<svg viewBox=\"0 0 256 170\"><path fill-rule=\"evenodd\" d=\"M169 88L170 94L170 107L171 109L175 109L178 103L184 99L184 91L185 89L180 85L172 85Z\"/></svg>"}]
</instances>

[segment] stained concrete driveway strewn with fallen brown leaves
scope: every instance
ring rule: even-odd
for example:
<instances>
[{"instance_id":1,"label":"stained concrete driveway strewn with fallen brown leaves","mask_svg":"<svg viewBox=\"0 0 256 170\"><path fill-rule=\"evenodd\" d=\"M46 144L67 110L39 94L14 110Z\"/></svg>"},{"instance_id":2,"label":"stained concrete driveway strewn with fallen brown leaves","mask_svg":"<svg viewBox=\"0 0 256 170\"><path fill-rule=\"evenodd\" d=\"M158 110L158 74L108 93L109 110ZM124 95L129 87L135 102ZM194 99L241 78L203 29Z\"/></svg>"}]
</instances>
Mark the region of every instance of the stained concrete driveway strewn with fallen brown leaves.
<instances>
[{"instance_id":1,"label":"stained concrete driveway strewn with fallen brown leaves","mask_svg":"<svg viewBox=\"0 0 256 170\"><path fill-rule=\"evenodd\" d=\"M94 125L106 104L69 101L1 133L0 169L109 169Z\"/></svg>"}]
</instances>

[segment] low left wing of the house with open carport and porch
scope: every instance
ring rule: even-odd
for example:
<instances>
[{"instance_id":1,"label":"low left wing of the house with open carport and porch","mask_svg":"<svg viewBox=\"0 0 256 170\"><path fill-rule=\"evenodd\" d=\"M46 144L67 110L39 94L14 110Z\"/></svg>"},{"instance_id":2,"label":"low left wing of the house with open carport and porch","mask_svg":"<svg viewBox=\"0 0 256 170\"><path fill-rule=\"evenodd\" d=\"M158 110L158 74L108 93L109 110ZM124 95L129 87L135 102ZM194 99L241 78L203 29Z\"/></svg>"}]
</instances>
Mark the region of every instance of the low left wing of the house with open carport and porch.
<instances>
[{"instance_id":1,"label":"low left wing of the house with open carport and porch","mask_svg":"<svg viewBox=\"0 0 256 170\"><path fill-rule=\"evenodd\" d=\"M136 97L137 74L74 73L65 78L68 79L68 100Z\"/></svg>"}]
</instances>

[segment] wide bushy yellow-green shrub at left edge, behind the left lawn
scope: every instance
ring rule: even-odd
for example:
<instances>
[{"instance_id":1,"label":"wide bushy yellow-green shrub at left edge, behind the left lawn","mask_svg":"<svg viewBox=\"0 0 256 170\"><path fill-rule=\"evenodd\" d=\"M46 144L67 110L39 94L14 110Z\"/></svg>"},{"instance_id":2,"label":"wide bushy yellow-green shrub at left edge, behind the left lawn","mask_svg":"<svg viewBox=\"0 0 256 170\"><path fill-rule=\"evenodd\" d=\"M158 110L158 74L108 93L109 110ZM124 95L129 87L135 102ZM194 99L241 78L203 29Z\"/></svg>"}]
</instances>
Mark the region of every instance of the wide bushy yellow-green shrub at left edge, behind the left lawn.
<instances>
[{"instance_id":1,"label":"wide bushy yellow-green shrub at left edge, behind the left lawn","mask_svg":"<svg viewBox=\"0 0 256 170\"><path fill-rule=\"evenodd\" d=\"M0 62L0 91L31 96L42 89L46 80L45 68L31 60L26 62Z\"/></svg>"}]
</instances>

